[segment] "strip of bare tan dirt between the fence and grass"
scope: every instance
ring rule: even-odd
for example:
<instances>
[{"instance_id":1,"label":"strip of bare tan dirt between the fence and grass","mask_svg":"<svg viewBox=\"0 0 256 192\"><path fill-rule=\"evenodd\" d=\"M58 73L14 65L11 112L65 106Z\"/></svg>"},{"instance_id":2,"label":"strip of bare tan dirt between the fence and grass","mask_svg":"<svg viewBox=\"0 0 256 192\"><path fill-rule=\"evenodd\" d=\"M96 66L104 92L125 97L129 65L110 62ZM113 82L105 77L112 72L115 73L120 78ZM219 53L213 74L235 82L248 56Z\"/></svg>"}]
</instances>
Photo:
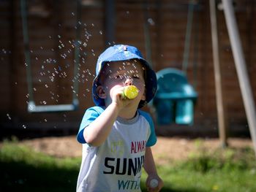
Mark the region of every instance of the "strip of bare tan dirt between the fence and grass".
<instances>
[{"instance_id":1,"label":"strip of bare tan dirt between the fence and grass","mask_svg":"<svg viewBox=\"0 0 256 192\"><path fill-rule=\"evenodd\" d=\"M34 150L57 157L80 157L82 154L82 145L77 142L75 136L29 139L20 142L20 144L28 145ZM250 139L230 138L228 145L234 148L252 147L252 141ZM187 158L198 147L215 150L217 147L221 147L221 143L219 139L158 137L157 145L152 147L152 152L156 161L159 162L167 159L180 160Z\"/></svg>"}]
</instances>

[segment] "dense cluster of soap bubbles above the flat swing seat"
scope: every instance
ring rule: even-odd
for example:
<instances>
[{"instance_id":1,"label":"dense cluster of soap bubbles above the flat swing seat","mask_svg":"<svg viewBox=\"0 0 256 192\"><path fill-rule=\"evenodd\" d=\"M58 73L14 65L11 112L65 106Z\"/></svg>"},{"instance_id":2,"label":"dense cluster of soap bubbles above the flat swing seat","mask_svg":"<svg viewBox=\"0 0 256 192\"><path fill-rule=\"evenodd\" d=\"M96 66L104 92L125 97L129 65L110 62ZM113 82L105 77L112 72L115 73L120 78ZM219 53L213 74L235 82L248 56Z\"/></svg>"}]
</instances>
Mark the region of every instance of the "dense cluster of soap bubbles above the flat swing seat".
<instances>
[{"instance_id":1,"label":"dense cluster of soap bubbles above the flat swing seat","mask_svg":"<svg viewBox=\"0 0 256 192\"><path fill-rule=\"evenodd\" d=\"M72 16L75 16L75 13L72 12L71 13ZM61 26L59 24L59 26ZM75 25L75 29L78 29L78 26L82 26L82 22L78 21L78 23L76 23ZM54 48L51 48L50 50L59 54L61 59L69 59L73 56L73 54L75 54L75 49L79 49L79 51L83 54L79 54L78 55L78 59L79 59L79 63L77 64L77 59L74 58L73 65L74 66L74 72L76 72L75 74L69 74L68 71L72 71L69 70L71 69L70 64L68 64L68 62L66 61L64 63L64 66L59 66L58 65L58 60L56 58L46 58L45 61L42 61L41 64L41 68L39 71L39 75L38 77L38 82L43 83L45 82L44 87L48 88L49 90L51 90L51 83L56 81L56 78L61 78L61 79L67 79L68 76L72 75L72 85L70 86L70 89L72 91L72 93L76 93L76 96L78 96L78 91L77 91L77 87L78 85L75 85L75 83L86 83L88 82L88 78L89 76L92 75L92 73L90 72L89 69L84 69L82 70L82 64L86 64L86 56L88 53L86 53L85 51L83 51L83 48L87 47L88 43L89 43L89 39L92 37L91 33L87 30L86 26L87 24L84 23L84 31L83 31L83 35L84 35L84 41L81 40L68 40L67 43L64 42L64 40L62 39L61 35L57 35L56 39L58 39L59 45L59 51L56 52L56 50ZM91 24L91 26L94 27L94 23ZM100 30L99 34L103 34L103 32ZM54 39L53 36L49 35L48 36L49 39ZM44 47L40 47L41 50L44 50ZM33 50L30 50L30 53L34 53ZM93 49L91 49L91 55L95 56L95 52ZM36 56L35 57L36 61L39 60L39 57ZM51 64L51 65L50 65ZM53 64L55 65L55 67L53 67ZM28 64L25 63L25 66L28 67ZM46 78L45 78L46 77ZM34 87L32 88L34 92L38 91L38 88ZM89 92L89 88L86 88L85 90L86 92ZM58 98L56 98L56 95L58 96ZM86 96L86 93L83 94L83 96ZM29 94L26 95L26 97L29 99ZM50 99L55 100L56 102L59 102L59 95L53 93L53 91L50 91ZM47 104L46 101L39 101L40 104Z\"/></svg>"}]
</instances>

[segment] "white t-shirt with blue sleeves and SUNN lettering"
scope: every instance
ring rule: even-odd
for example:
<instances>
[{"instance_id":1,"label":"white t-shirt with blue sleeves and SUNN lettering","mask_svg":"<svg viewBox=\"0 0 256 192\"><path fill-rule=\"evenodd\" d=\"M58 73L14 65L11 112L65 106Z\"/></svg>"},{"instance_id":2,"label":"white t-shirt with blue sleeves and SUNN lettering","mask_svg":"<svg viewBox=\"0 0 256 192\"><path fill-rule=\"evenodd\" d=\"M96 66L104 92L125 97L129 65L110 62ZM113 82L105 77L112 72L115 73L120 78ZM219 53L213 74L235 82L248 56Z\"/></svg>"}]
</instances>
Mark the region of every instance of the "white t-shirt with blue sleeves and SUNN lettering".
<instances>
[{"instance_id":1,"label":"white t-shirt with blue sleeves and SUNN lettering","mask_svg":"<svg viewBox=\"0 0 256 192\"><path fill-rule=\"evenodd\" d=\"M138 110L135 118L117 118L106 141L99 147L86 144L83 129L104 110L86 110L78 131L83 143L83 156L77 191L140 191L140 176L146 147L157 142L153 121L148 113Z\"/></svg>"}]
</instances>

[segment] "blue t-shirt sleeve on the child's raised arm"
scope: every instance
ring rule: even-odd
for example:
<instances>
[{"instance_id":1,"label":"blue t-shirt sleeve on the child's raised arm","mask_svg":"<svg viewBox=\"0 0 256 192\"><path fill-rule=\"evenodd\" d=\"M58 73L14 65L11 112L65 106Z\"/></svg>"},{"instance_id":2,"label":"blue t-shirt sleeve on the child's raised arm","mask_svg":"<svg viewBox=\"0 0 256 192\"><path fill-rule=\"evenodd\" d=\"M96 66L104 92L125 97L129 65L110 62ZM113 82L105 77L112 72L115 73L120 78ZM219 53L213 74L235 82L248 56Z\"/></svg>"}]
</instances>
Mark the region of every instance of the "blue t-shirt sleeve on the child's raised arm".
<instances>
[{"instance_id":1,"label":"blue t-shirt sleeve on the child's raised arm","mask_svg":"<svg viewBox=\"0 0 256 192\"><path fill-rule=\"evenodd\" d=\"M86 113L83 115L82 122L80 123L80 128L78 131L77 139L80 143L86 143L86 140L83 137L83 130L86 128L86 126L89 126L91 122L93 122L96 118L99 117L99 115L104 110L101 107L91 107L88 110L86 110Z\"/></svg>"}]
</instances>

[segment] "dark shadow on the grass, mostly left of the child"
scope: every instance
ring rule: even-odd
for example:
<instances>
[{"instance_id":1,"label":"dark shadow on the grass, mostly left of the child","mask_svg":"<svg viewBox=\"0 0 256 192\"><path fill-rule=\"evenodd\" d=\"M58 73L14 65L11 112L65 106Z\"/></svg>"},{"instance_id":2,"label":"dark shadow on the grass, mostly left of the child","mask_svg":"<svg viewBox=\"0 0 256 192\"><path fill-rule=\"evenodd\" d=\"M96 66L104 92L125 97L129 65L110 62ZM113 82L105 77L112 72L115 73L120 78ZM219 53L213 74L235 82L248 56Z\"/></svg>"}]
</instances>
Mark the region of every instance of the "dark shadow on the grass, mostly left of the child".
<instances>
[{"instance_id":1,"label":"dark shadow on the grass, mostly left of the child","mask_svg":"<svg viewBox=\"0 0 256 192\"><path fill-rule=\"evenodd\" d=\"M23 161L0 162L0 191L19 192L65 192L75 191L77 168L59 168L48 166L32 166ZM142 191L146 191L142 186ZM163 188L162 192L198 192L198 189ZM108 192L108 191L106 191ZM200 192L200 191L199 191Z\"/></svg>"}]
</instances>

